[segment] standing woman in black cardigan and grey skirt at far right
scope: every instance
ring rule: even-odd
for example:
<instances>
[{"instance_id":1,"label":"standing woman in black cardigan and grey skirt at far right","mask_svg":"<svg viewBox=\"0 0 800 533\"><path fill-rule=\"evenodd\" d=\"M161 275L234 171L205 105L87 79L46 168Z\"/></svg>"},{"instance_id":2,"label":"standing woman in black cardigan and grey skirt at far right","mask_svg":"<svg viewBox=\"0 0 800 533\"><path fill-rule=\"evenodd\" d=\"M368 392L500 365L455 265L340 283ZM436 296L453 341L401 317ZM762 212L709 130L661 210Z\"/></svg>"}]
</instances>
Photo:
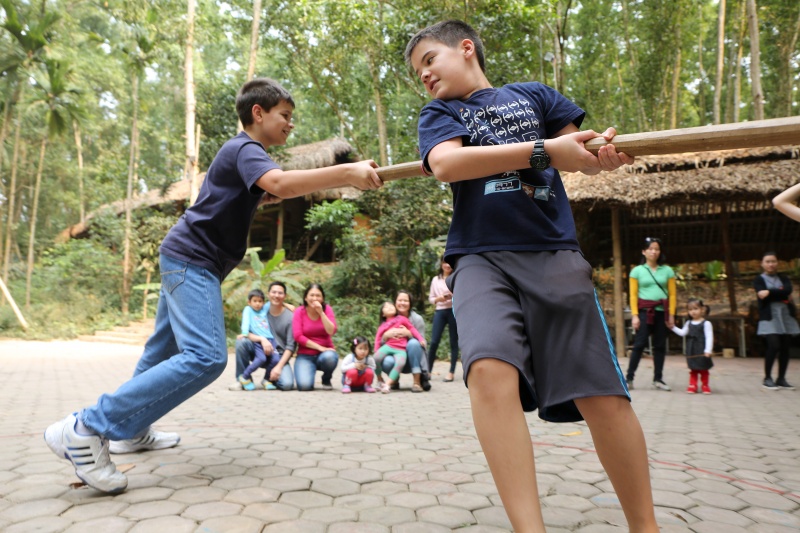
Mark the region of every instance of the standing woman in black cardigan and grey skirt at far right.
<instances>
[{"instance_id":1,"label":"standing woman in black cardigan and grey skirt at far right","mask_svg":"<svg viewBox=\"0 0 800 533\"><path fill-rule=\"evenodd\" d=\"M789 368L790 337L800 335L795 315L797 309L792 302L792 283L783 274L778 274L778 256L767 252L761 258L764 272L753 280L758 296L758 330L756 334L767 344L764 357L764 388L769 390L794 387L786 381ZM772 365L778 359L778 381L772 380Z\"/></svg>"}]
</instances>

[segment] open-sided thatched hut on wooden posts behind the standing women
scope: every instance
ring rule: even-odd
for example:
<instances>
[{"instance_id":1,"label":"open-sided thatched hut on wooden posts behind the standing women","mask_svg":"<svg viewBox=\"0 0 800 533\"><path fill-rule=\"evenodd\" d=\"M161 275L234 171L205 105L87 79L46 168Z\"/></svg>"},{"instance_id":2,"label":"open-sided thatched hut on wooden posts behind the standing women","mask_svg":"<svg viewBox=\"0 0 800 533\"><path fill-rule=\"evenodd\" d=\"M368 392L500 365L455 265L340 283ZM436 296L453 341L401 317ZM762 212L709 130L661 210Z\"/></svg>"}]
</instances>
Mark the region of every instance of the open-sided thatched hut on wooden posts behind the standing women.
<instances>
[{"instance_id":1,"label":"open-sided thatched hut on wooden posts behind the standing women","mask_svg":"<svg viewBox=\"0 0 800 533\"><path fill-rule=\"evenodd\" d=\"M637 158L634 165L597 176L562 178L587 260L613 264L614 322L624 353L623 264L638 263L645 237L659 237L671 263L758 259L767 249L798 257L800 224L777 212L771 199L800 181L800 147ZM736 313L733 276L728 276Z\"/></svg>"}]
</instances>

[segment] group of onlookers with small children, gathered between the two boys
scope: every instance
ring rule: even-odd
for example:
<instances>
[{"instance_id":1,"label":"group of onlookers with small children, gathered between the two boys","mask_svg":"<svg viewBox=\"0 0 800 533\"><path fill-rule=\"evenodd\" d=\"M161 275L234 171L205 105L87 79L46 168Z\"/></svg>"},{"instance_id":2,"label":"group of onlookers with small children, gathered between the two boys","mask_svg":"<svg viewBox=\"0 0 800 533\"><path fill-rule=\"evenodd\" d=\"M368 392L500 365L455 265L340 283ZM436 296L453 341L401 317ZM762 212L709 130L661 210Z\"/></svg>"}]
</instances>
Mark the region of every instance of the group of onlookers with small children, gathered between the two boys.
<instances>
[{"instance_id":1,"label":"group of onlookers with small children, gathered between the two boys","mask_svg":"<svg viewBox=\"0 0 800 533\"><path fill-rule=\"evenodd\" d=\"M411 294L398 291L394 301L381 304L375 331L365 331L349 341L350 353L341 361L343 393L388 394L399 388L402 374L411 374L412 392L430 390L431 370L445 327L449 330L450 368L443 381L454 380L458 330L452 294L445 283L452 271L442 259L431 280L428 300L435 311L430 344L425 320L412 309ZM333 388L333 373L340 366L333 341L337 323L324 289L318 283L310 284L296 308L285 300L286 286L280 281L270 283L266 294L259 289L248 294L236 338L236 383L231 390L313 390L317 372L322 373L322 388ZM259 379L261 369L264 373Z\"/></svg>"}]
</instances>

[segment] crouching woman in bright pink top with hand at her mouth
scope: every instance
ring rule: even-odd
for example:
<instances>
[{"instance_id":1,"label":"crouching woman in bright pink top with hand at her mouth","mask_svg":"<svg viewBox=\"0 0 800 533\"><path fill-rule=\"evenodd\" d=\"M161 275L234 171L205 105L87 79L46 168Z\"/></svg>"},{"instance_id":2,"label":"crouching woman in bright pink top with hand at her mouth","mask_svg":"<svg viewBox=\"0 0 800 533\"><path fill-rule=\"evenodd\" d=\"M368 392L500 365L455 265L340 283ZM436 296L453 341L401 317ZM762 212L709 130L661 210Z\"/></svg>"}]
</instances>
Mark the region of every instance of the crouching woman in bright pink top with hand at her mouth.
<instances>
[{"instance_id":1,"label":"crouching woman in bright pink top with hand at her mouth","mask_svg":"<svg viewBox=\"0 0 800 533\"><path fill-rule=\"evenodd\" d=\"M312 283L303 294L304 305L294 311L292 333L297 341L297 359L294 377L297 390L314 390L314 377L322 371L322 389L331 390L331 377L339 354L333 348L336 317L325 303L325 292L318 283Z\"/></svg>"}]
</instances>

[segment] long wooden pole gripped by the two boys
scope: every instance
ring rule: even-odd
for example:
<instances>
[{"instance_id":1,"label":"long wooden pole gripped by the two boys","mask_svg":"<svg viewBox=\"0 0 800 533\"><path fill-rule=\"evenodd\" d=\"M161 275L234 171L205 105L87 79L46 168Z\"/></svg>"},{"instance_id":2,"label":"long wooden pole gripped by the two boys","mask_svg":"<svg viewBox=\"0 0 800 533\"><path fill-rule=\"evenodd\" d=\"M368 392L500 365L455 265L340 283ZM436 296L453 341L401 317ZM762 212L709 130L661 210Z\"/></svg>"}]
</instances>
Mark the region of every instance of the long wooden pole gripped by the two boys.
<instances>
[{"instance_id":1,"label":"long wooden pole gripped by the two boys","mask_svg":"<svg viewBox=\"0 0 800 533\"><path fill-rule=\"evenodd\" d=\"M596 154L606 144L613 144L618 152L631 156L794 145L800 144L800 116L630 133L617 135L611 143L602 138L592 139L585 146ZM422 171L421 161L380 167L377 171L383 181L426 175Z\"/></svg>"}]
</instances>

